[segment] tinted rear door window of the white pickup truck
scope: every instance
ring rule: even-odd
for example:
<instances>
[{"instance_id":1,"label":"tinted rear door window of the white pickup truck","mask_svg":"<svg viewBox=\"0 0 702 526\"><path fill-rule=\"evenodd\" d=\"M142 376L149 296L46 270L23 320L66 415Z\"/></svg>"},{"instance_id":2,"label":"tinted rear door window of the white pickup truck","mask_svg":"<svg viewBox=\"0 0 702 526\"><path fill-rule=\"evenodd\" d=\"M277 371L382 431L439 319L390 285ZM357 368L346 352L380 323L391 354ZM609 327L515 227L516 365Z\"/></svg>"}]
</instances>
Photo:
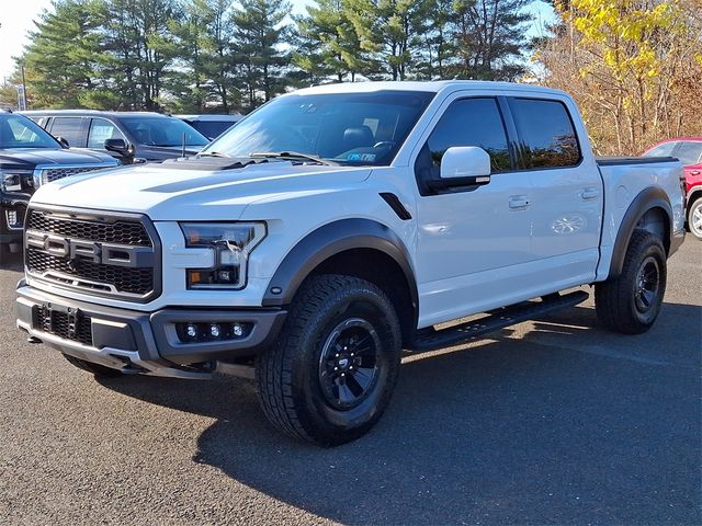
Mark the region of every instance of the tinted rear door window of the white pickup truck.
<instances>
[{"instance_id":1,"label":"tinted rear door window of the white pickup truck","mask_svg":"<svg viewBox=\"0 0 702 526\"><path fill-rule=\"evenodd\" d=\"M580 146L568 110L559 101L510 99L525 169L566 168L580 162Z\"/></svg>"}]
</instances>

